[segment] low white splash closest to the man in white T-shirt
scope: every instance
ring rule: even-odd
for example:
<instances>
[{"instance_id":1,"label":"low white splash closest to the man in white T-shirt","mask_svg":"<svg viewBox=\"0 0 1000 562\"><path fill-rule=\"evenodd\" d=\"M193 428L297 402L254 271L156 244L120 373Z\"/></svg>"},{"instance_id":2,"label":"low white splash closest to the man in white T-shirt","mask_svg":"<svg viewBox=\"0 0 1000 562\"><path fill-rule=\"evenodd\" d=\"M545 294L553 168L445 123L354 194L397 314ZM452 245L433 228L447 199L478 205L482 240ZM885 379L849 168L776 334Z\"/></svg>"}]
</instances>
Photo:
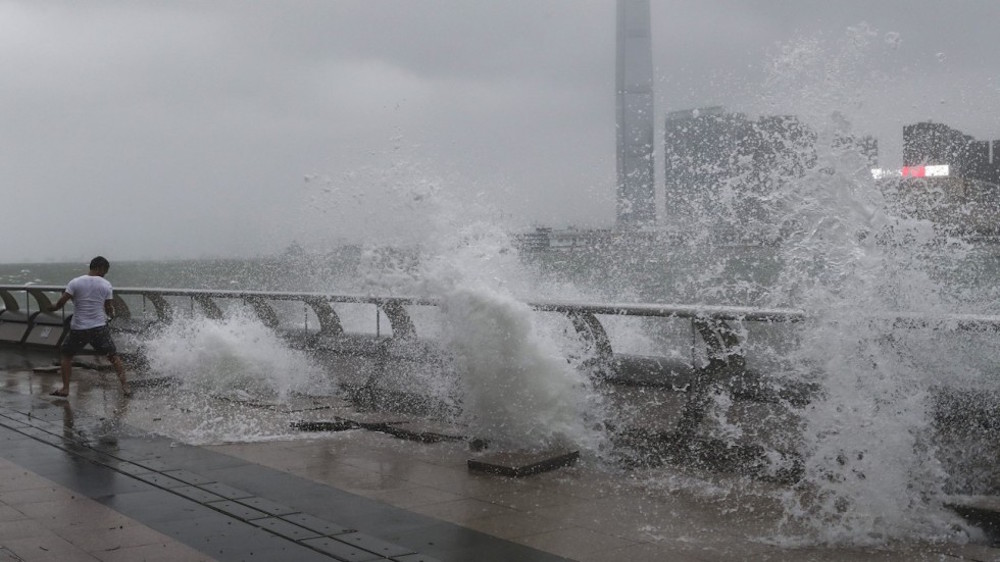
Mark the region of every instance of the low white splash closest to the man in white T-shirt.
<instances>
[{"instance_id":1,"label":"low white splash closest to the man in white T-shirt","mask_svg":"<svg viewBox=\"0 0 1000 562\"><path fill-rule=\"evenodd\" d=\"M224 318L182 316L146 343L149 369L179 384L153 390L155 411L133 408L158 432L185 443L215 444L292 437L280 410L296 395L329 396L332 373L291 349L249 310Z\"/></svg>"}]
</instances>

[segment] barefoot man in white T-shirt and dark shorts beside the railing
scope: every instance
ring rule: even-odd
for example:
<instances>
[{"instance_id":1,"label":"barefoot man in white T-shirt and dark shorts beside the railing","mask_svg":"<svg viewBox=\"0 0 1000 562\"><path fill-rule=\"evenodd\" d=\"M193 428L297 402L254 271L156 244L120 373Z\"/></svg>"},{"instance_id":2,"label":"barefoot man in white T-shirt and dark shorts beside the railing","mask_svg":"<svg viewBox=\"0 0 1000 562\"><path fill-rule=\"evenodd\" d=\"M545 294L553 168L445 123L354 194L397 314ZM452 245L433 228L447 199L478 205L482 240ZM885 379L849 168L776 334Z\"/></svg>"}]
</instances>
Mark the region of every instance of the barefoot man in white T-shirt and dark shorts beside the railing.
<instances>
[{"instance_id":1,"label":"barefoot man in white T-shirt and dark shorts beside the railing","mask_svg":"<svg viewBox=\"0 0 1000 562\"><path fill-rule=\"evenodd\" d=\"M90 271L66 285L61 297L52 305L56 311L73 301L73 320L69 325L69 335L60 348L60 372L63 386L53 391L52 396L69 396L69 379L73 374L73 356L90 344L94 351L107 355L108 360L122 383L122 393L129 396L128 382L125 381L125 366L118 357L115 342L111 339L108 318L114 318L115 306L112 301L111 283L104 278L111 264L102 256L90 260Z\"/></svg>"}]
</instances>

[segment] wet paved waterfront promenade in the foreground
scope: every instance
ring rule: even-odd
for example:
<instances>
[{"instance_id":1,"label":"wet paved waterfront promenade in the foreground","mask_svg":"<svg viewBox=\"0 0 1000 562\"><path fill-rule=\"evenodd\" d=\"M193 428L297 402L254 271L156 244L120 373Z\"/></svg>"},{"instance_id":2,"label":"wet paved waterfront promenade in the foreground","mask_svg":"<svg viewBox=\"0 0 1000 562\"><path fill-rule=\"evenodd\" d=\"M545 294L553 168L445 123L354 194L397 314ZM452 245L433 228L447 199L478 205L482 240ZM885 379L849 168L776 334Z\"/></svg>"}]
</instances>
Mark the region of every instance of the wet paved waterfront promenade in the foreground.
<instances>
[{"instance_id":1,"label":"wet paved waterfront promenade in the foreground","mask_svg":"<svg viewBox=\"0 0 1000 562\"><path fill-rule=\"evenodd\" d=\"M57 399L58 375L33 370L50 352L0 358L4 562L1000 559L985 544L778 546L777 505L693 493L682 472L583 459L507 478L470 472L463 442L364 429L186 445L157 435L162 400L141 380L125 400L113 376L77 369Z\"/></svg>"}]
</instances>

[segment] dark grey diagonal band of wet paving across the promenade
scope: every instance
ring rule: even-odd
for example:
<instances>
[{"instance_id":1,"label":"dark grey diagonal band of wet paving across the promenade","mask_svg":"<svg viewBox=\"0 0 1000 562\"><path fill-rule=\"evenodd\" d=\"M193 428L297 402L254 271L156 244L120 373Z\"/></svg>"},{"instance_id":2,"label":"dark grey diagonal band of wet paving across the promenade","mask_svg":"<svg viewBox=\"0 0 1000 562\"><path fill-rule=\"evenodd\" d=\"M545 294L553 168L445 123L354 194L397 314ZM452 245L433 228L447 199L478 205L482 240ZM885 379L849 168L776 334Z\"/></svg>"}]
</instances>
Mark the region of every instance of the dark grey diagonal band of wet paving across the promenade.
<instances>
[{"instance_id":1,"label":"dark grey diagonal band of wet paving across the promenade","mask_svg":"<svg viewBox=\"0 0 1000 562\"><path fill-rule=\"evenodd\" d=\"M217 560L566 560L161 436L95 442L87 418L0 392L0 457Z\"/></svg>"}]
</instances>

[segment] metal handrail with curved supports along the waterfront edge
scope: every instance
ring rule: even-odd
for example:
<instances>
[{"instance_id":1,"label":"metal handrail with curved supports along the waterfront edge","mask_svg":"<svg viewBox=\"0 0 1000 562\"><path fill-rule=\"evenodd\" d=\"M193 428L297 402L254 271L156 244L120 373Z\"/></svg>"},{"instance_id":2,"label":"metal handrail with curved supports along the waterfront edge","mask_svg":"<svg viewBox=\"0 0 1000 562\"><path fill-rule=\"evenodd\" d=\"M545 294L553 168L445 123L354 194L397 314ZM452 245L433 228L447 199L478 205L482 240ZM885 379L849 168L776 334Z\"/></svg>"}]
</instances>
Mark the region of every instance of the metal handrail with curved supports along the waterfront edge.
<instances>
[{"instance_id":1,"label":"metal handrail with curved supports along the waterfront edge","mask_svg":"<svg viewBox=\"0 0 1000 562\"><path fill-rule=\"evenodd\" d=\"M25 292L36 298L40 306L48 300L43 293L61 292L57 285L0 285L0 295L5 303L13 302L12 292ZM345 295L318 292L290 291L240 291L122 287L115 289L116 309L122 307L121 316L131 317L122 296L141 296L153 303L159 322L173 318L173 307L166 297L187 297L192 309L198 303L210 318L222 316L222 310L213 299L236 299L250 306L261 321L273 329L280 327L280 318L267 301L293 301L309 306L319 319L320 338L337 338L344 334L334 304L370 304L385 314L392 325L392 339L406 341L416 337L416 330L407 306L439 306L440 299L412 296ZM705 343L707 364L694 368L694 376L686 387L686 399L677 423L676 445L687 447L693 443L695 431L706 418L713 389L723 388L728 382L750 382L757 375L747 369L741 338L745 332L734 329L729 322L798 323L817 316L797 308L754 308L746 306L678 305L665 303L593 303L570 301L528 301L526 305L539 312L560 313L567 317L584 343L588 358L583 365L597 379L607 380L615 373L615 355L611 340L597 318L604 316L662 317L688 319L693 333ZM9 306L12 310L16 310ZM867 316L866 320L883 323L892 328L930 328L948 330L991 330L1000 332L1000 316L976 314L919 314L894 313ZM29 328L30 330L30 328ZM27 335L24 336L27 338ZM377 334L376 334L377 337ZM23 341L23 340L22 340ZM315 340L321 342L322 340Z\"/></svg>"}]
</instances>

